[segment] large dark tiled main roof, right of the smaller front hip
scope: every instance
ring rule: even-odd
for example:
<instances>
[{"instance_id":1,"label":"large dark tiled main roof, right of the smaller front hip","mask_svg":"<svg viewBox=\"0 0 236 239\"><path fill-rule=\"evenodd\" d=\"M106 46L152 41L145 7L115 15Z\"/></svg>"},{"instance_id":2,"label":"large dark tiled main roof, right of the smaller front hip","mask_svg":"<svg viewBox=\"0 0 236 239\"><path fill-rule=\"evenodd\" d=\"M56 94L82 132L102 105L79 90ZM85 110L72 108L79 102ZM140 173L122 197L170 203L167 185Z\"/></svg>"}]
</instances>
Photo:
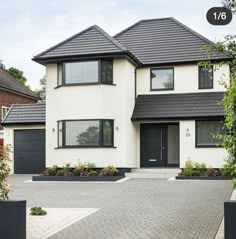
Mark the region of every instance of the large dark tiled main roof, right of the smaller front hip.
<instances>
[{"instance_id":1,"label":"large dark tiled main roof, right of the smaller front hip","mask_svg":"<svg viewBox=\"0 0 236 239\"><path fill-rule=\"evenodd\" d=\"M174 18L141 20L114 38L146 65L228 58L214 43ZM207 45L213 46L210 55Z\"/></svg>"}]
</instances>

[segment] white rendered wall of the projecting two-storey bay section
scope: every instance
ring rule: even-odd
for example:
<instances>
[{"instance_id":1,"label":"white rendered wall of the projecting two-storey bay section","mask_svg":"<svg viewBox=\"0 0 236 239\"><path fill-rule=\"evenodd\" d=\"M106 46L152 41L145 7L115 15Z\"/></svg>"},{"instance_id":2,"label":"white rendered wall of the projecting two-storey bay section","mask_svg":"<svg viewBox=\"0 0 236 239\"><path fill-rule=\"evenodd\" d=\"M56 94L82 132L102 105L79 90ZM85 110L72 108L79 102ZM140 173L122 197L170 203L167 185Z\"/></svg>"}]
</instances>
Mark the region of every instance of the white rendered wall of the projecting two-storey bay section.
<instances>
[{"instance_id":1,"label":"white rendered wall of the projecting two-storey bay section","mask_svg":"<svg viewBox=\"0 0 236 239\"><path fill-rule=\"evenodd\" d=\"M113 62L114 86L57 85L57 67L46 66L46 166L62 166L78 159L97 167L137 167L137 128L130 118L134 109L134 66L124 59ZM57 147L57 121L66 119L114 119L115 148ZM55 129L55 131L53 131Z\"/></svg>"}]
</instances>

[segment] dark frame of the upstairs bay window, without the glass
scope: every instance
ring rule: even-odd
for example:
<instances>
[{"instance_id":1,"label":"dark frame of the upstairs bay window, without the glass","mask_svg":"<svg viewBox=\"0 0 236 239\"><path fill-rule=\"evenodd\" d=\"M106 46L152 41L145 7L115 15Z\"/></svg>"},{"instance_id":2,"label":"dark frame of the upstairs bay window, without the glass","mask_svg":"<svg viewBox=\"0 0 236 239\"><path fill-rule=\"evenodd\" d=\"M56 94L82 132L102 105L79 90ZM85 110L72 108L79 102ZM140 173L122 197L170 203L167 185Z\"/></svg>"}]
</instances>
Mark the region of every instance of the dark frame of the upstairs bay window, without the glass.
<instances>
[{"instance_id":1,"label":"dark frame of the upstairs bay window, without the glass","mask_svg":"<svg viewBox=\"0 0 236 239\"><path fill-rule=\"evenodd\" d=\"M66 83L65 81L65 73L66 73L66 64L69 63L82 63L82 62L98 62L98 81L97 82L86 82L86 83ZM111 83L104 83L102 82L102 62L111 62L111 66L112 66L112 74L111 74ZM62 69L62 72L59 72L59 69ZM61 84L59 84L59 74L62 74L62 80L61 80ZM100 59L100 60L86 60L86 61L66 61L66 62L60 62L57 63L57 87L61 87L61 86L82 86L82 85L114 85L113 84L113 59Z\"/></svg>"}]
</instances>

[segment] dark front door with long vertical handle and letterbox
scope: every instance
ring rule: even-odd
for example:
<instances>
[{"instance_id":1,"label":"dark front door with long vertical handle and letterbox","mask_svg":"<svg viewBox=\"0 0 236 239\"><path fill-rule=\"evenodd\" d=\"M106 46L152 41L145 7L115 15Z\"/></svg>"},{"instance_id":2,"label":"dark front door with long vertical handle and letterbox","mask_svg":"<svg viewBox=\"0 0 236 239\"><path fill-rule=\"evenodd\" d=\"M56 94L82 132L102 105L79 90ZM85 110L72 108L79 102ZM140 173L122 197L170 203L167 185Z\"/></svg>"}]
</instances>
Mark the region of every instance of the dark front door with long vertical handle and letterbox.
<instances>
[{"instance_id":1,"label":"dark front door with long vertical handle and letterbox","mask_svg":"<svg viewBox=\"0 0 236 239\"><path fill-rule=\"evenodd\" d=\"M141 167L165 167L166 126L140 125Z\"/></svg>"}]
</instances>

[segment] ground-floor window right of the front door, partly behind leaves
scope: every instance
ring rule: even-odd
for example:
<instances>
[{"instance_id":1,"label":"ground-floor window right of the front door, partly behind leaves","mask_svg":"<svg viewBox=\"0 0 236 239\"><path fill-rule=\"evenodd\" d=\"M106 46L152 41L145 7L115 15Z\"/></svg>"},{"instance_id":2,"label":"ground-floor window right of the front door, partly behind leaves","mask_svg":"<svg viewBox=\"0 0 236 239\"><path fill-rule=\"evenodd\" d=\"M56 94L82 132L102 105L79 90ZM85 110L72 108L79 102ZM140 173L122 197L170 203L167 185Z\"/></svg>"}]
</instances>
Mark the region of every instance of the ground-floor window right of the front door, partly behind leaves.
<instances>
[{"instance_id":1,"label":"ground-floor window right of the front door, partly behind leaves","mask_svg":"<svg viewBox=\"0 0 236 239\"><path fill-rule=\"evenodd\" d=\"M222 139L217 135L224 135L223 120L198 120L196 121L196 147L217 147L222 144Z\"/></svg>"}]
</instances>

